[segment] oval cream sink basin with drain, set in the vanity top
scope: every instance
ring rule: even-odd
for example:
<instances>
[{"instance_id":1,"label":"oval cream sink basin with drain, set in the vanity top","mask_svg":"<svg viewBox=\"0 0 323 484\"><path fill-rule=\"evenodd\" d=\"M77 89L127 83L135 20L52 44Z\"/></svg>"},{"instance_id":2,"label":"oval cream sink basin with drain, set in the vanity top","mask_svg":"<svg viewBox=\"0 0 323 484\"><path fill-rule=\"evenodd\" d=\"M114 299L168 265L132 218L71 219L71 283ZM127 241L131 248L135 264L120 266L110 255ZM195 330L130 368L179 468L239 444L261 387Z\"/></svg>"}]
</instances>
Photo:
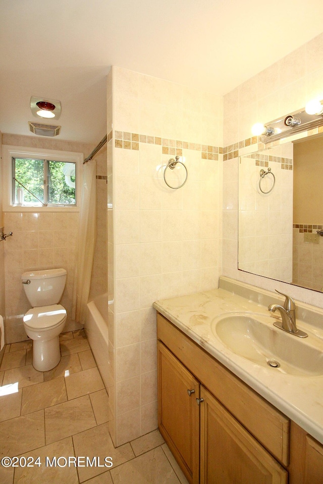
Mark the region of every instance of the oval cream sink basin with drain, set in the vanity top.
<instances>
[{"instance_id":1,"label":"oval cream sink basin with drain, set in the vanity top","mask_svg":"<svg viewBox=\"0 0 323 484\"><path fill-rule=\"evenodd\" d=\"M323 341L310 333L298 338L274 322L270 315L226 313L213 319L211 331L231 351L262 367L296 376L323 375Z\"/></svg>"}]
</instances>

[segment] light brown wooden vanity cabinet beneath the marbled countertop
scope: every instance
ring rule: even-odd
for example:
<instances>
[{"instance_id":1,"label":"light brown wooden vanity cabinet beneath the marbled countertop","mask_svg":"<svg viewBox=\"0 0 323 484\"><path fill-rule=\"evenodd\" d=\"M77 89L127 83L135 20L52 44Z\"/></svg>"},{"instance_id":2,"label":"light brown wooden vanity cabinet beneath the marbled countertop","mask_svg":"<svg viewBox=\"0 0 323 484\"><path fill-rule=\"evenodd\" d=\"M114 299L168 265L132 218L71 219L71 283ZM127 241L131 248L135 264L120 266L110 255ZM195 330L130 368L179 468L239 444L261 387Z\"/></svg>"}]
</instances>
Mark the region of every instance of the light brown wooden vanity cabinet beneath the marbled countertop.
<instances>
[{"instance_id":1,"label":"light brown wooden vanity cabinet beneath the marbled countertop","mask_svg":"<svg viewBox=\"0 0 323 484\"><path fill-rule=\"evenodd\" d=\"M320 444L159 313L157 339L158 427L189 482L322 484Z\"/></svg>"}]
</instances>

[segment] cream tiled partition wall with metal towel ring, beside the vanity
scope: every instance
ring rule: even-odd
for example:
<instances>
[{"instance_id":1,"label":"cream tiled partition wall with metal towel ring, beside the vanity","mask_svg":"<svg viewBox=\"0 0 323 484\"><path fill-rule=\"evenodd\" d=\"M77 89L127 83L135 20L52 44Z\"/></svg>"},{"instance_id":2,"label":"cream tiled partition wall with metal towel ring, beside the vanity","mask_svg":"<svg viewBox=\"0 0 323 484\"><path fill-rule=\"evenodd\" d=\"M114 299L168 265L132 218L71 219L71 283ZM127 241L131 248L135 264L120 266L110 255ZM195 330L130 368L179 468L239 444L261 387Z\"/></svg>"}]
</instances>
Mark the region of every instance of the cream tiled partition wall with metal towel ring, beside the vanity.
<instances>
[{"instance_id":1,"label":"cream tiled partition wall with metal towel ring, beside the vanity","mask_svg":"<svg viewBox=\"0 0 323 484\"><path fill-rule=\"evenodd\" d=\"M157 426L152 302L218 285L223 106L220 96L115 67L108 111L111 102L109 400L121 445ZM188 170L179 190L163 178L176 155ZM184 181L183 166L168 171L170 185Z\"/></svg>"}]
</instances>

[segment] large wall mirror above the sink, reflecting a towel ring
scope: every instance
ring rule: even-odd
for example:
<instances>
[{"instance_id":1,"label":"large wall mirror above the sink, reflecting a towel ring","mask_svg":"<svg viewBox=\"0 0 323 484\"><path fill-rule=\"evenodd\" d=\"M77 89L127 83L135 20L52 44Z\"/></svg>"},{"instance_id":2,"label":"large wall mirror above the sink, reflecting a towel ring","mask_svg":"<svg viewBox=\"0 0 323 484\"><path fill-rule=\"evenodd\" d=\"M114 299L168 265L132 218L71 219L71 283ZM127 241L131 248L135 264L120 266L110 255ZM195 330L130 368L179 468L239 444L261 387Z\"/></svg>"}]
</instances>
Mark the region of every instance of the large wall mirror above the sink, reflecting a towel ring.
<instances>
[{"instance_id":1,"label":"large wall mirror above the sink, reflecting a towel ring","mask_svg":"<svg viewBox=\"0 0 323 484\"><path fill-rule=\"evenodd\" d=\"M239 157L239 270L323 292L322 161L323 134Z\"/></svg>"}]
</instances>

